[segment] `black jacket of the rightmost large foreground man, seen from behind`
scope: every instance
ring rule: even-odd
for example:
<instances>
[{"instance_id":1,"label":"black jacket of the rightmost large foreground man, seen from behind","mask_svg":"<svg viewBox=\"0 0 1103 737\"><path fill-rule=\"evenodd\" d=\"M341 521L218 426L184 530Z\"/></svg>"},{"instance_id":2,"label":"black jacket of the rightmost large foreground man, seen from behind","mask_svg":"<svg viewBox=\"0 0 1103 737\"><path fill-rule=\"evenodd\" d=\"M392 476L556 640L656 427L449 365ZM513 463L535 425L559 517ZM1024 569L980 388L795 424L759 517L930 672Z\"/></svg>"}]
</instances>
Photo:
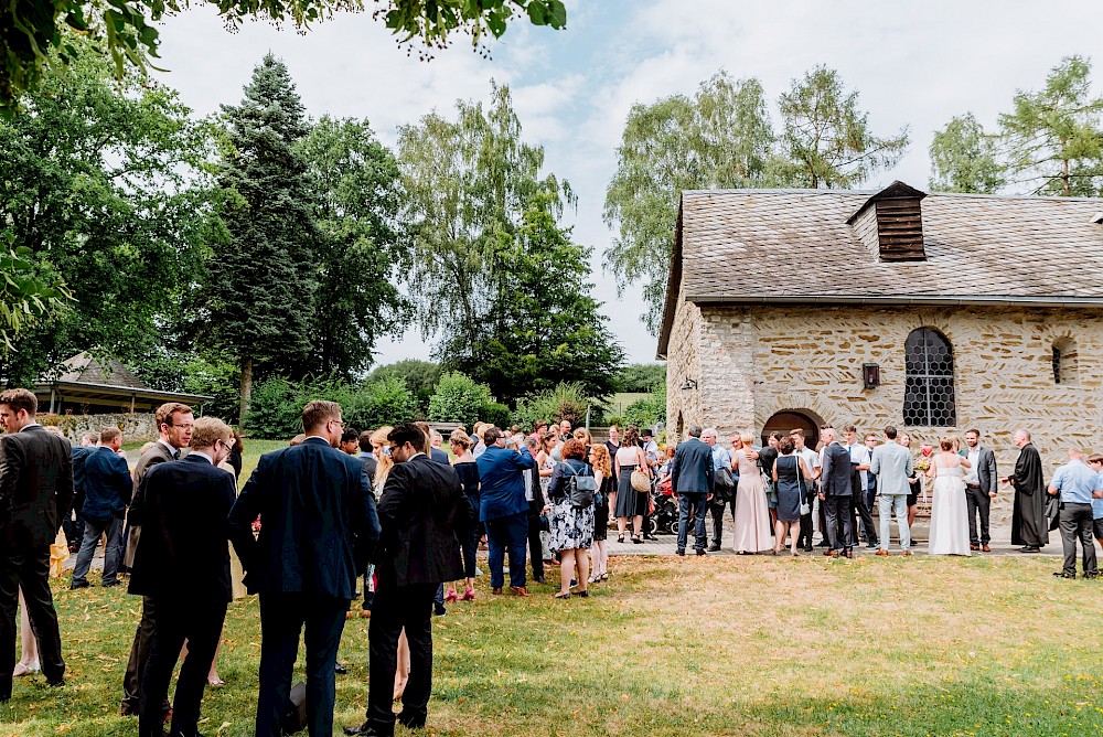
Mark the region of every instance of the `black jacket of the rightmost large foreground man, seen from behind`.
<instances>
[{"instance_id":1,"label":"black jacket of the rightmost large foreground man, seen from behind","mask_svg":"<svg viewBox=\"0 0 1103 737\"><path fill-rule=\"evenodd\" d=\"M451 466L424 453L396 463L379 498L381 579L409 586L463 578L460 541L473 524L474 510Z\"/></svg>"}]
</instances>

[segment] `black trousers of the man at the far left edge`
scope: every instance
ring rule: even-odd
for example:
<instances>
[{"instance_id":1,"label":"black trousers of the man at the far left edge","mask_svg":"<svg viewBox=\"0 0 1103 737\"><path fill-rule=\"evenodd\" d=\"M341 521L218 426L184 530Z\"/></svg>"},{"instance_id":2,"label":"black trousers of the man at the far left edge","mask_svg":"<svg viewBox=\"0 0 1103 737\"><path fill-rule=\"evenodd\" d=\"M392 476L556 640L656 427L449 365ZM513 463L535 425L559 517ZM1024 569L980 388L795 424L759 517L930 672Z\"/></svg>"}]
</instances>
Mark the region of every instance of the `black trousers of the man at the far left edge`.
<instances>
[{"instance_id":1,"label":"black trousers of the man at the far left edge","mask_svg":"<svg viewBox=\"0 0 1103 737\"><path fill-rule=\"evenodd\" d=\"M39 643L39 663L47 681L65 676L57 612L50 591L50 545L23 548L0 546L0 702L11 698L15 666L15 609L23 589L26 617Z\"/></svg>"}]
</instances>

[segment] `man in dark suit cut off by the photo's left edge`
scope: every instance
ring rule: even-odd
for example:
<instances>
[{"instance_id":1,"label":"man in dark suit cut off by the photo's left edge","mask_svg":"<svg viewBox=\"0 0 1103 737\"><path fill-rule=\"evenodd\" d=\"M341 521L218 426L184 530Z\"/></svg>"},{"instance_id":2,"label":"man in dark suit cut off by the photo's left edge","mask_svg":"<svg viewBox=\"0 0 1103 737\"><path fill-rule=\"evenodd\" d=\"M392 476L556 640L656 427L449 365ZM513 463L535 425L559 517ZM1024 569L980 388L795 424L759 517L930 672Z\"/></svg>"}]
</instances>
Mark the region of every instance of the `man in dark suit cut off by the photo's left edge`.
<instances>
[{"instance_id":1,"label":"man in dark suit cut off by the photo's left edge","mask_svg":"<svg viewBox=\"0 0 1103 737\"><path fill-rule=\"evenodd\" d=\"M28 389L0 393L0 703L11 698L19 589L39 642L46 683L65 676L57 612L50 592L50 545L73 504L68 441L34 421L39 402Z\"/></svg>"}]
</instances>

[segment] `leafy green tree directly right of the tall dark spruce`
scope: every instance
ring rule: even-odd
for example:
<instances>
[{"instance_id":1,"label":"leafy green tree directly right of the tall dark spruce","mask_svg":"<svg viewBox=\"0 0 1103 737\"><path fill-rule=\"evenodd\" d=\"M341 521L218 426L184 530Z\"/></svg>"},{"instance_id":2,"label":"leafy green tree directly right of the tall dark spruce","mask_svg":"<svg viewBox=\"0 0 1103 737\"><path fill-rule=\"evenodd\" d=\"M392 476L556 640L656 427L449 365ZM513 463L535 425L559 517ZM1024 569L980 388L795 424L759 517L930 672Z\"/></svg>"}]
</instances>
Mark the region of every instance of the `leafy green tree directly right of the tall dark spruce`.
<instances>
[{"instance_id":1,"label":"leafy green tree directly right of the tall dark spruce","mask_svg":"<svg viewBox=\"0 0 1103 737\"><path fill-rule=\"evenodd\" d=\"M404 306L390 281L400 253L398 164L366 120L322 116L298 150L322 239L307 370L352 378Z\"/></svg>"}]
</instances>

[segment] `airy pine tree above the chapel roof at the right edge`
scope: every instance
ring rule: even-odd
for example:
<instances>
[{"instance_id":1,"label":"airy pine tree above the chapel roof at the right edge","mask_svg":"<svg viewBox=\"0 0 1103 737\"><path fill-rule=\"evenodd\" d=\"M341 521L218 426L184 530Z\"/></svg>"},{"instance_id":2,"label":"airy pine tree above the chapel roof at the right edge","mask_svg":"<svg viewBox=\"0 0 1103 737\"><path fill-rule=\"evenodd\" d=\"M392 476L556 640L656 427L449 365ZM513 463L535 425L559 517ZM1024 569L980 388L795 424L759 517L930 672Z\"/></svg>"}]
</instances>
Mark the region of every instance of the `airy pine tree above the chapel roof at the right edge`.
<instances>
[{"instance_id":1,"label":"airy pine tree above the chapel roof at the right edge","mask_svg":"<svg viewBox=\"0 0 1103 737\"><path fill-rule=\"evenodd\" d=\"M1103 97L1091 97L1090 75L1089 60L1068 56L999 116L1009 178L1032 194L1103 194Z\"/></svg>"}]
</instances>

